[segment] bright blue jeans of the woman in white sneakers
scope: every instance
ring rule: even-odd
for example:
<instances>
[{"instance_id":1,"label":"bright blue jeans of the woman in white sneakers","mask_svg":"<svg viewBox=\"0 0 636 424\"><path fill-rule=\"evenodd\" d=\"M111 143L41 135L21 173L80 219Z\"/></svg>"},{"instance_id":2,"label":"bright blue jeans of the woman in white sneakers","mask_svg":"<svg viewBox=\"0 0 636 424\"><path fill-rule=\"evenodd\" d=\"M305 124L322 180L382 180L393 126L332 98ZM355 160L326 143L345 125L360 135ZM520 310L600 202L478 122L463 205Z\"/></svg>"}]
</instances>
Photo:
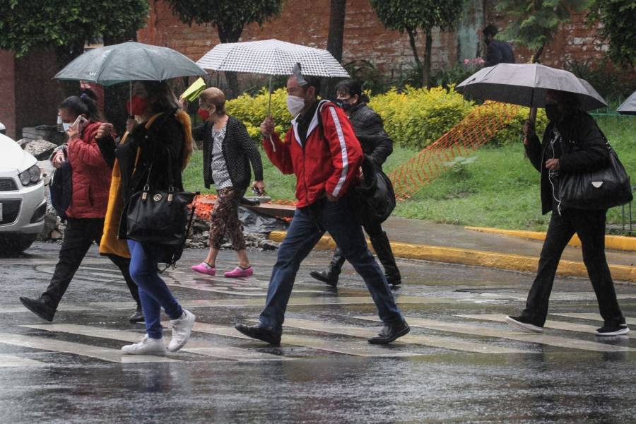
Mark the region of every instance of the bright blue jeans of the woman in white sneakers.
<instances>
[{"instance_id":1,"label":"bright blue jeans of the woman in white sneakers","mask_svg":"<svg viewBox=\"0 0 636 424\"><path fill-rule=\"evenodd\" d=\"M179 302L170 293L165 281L158 273L157 247L143 245L128 240L130 250L130 275L139 286L139 300L143 317L146 319L146 333L151 338L161 338L161 308L170 319L183 314Z\"/></svg>"}]
</instances>

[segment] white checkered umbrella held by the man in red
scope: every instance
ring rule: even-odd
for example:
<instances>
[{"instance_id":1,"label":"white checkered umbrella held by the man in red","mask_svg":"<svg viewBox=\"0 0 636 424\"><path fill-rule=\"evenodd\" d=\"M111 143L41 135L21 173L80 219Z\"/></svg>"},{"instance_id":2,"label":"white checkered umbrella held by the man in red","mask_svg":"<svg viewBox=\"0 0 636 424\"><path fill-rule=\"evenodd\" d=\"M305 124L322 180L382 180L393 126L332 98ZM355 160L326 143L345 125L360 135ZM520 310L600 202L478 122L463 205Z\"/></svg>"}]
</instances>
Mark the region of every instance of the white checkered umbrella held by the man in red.
<instances>
[{"instance_id":1,"label":"white checkered umbrella held by the man in red","mask_svg":"<svg viewBox=\"0 0 636 424\"><path fill-rule=\"evenodd\" d=\"M349 78L331 53L278 40L228 42L216 45L196 62L212 71L290 75L296 63L303 75Z\"/></svg>"}]
</instances>

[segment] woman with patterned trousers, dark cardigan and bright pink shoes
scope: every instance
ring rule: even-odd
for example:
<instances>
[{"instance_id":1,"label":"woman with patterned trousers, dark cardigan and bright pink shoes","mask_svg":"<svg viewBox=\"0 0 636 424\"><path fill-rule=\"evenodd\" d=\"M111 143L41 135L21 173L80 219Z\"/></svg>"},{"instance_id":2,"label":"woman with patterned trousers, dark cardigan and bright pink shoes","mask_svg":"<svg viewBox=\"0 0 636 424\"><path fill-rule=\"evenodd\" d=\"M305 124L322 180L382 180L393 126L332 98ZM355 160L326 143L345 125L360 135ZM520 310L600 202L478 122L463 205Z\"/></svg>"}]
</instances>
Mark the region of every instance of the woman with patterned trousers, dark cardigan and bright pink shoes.
<instances>
[{"instance_id":1,"label":"woman with patterned trousers, dark cardigan and bright pink shoes","mask_svg":"<svg viewBox=\"0 0 636 424\"><path fill-rule=\"evenodd\" d=\"M205 261L192 269L207 275L216 274L216 257L223 245L224 235L232 240L232 249L238 256L238 266L225 272L226 277L249 277L254 270L247 259L245 238L238 218L239 201L249 187L252 177L249 164L254 168L255 187L265 190L261 155L247 134L245 125L225 113L225 94L218 88L207 88L199 96L199 116L204 124L192 129L196 140L204 140L204 183L216 187L218 199L210 223L210 249Z\"/></svg>"}]
</instances>

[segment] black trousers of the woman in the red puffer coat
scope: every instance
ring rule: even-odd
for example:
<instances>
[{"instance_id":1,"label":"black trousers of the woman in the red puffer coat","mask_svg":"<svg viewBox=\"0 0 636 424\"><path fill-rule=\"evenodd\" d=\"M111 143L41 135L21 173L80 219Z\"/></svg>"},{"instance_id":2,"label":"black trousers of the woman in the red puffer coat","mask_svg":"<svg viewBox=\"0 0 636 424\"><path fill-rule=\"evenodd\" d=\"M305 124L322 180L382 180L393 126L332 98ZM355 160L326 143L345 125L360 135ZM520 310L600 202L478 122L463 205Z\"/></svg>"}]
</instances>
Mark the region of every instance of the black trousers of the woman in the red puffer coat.
<instances>
[{"instance_id":1,"label":"black trousers of the woman in the red puffer coat","mask_svg":"<svg viewBox=\"0 0 636 424\"><path fill-rule=\"evenodd\" d=\"M66 289L69 288L69 284L86 256L90 245L93 242L100 244L102 232L104 232L104 218L68 218L66 221L64 242L62 242L61 249L59 249L59 261L55 266L47 291L42 293L42 298L47 300L54 309L57 309L57 305L59 305L61 298L66 293ZM119 271L122 271L122 276L126 280L130 294L139 305L137 285L129 272L130 259L116 255L108 255L108 258L113 264L117 265Z\"/></svg>"}]
</instances>

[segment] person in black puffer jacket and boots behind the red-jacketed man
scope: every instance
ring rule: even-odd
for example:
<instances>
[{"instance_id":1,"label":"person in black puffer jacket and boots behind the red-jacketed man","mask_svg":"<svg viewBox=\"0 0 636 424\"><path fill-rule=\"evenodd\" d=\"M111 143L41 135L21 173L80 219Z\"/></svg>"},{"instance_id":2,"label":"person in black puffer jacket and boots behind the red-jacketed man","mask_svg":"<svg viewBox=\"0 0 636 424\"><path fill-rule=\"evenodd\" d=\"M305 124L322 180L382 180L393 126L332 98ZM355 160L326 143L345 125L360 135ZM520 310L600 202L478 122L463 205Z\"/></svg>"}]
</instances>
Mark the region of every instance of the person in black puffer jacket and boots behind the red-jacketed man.
<instances>
[{"instance_id":1,"label":"person in black puffer jacket and boots behind the red-jacketed man","mask_svg":"<svg viewBox=\"0 0 636 424\"><path fill-rule=\"evenodd\" d=\"M367 106L369 98L362 92L362 86L358 81L341 81L336 86L336 95L351 121L351 126L353 126L355 136L360 141L366 160L371 160L382 169L382 164L393 152L393 142L389 138L389 134L384 131L382 118L375 110ZM370 223L364 225L363 228L371 239L371 245L377 254L377 259L384 266L384 276L387 277L389 284L401 284L400 271L391 250L389 237L382 230L381 223ZM342 250L336 247L329 268L324 271L311 271L310 276L336 287L344 261Z\"/></svg>"}]
</instances>

